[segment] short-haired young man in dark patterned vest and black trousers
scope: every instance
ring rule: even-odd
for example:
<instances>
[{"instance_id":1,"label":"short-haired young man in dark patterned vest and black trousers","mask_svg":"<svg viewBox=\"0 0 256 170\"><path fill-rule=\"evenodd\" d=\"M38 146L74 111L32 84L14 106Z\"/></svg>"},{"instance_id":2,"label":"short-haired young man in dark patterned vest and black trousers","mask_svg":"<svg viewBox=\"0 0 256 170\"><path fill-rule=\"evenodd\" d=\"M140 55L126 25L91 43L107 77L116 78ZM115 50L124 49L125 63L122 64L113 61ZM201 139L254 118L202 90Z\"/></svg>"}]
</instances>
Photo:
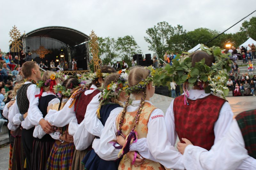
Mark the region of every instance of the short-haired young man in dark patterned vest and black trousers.
<instances>
[{"instance_id":1,"label":"short-haired young man in dark patterned vest and black trousers","mask_svg":"<svg viewBox=\"0 0 256 170\"><path fill-rule=\"evenodd\" d=\"M42 112L38 108L39 101L35 95L40 93L40 89L36 88L36 82L41 80L41 71L36 62L25 62L21 68L27 81L20 87L17 92L17 100L13 104L14 109L19 111L22 126L22 145L26 155L26 166L28 170L32 169L31 154L33 150L33 131L35 125L40 125L47 133L52 133L51 124L44 120ZM28 112L28 116L26 116Z\"/></svg>"}]
</instances>

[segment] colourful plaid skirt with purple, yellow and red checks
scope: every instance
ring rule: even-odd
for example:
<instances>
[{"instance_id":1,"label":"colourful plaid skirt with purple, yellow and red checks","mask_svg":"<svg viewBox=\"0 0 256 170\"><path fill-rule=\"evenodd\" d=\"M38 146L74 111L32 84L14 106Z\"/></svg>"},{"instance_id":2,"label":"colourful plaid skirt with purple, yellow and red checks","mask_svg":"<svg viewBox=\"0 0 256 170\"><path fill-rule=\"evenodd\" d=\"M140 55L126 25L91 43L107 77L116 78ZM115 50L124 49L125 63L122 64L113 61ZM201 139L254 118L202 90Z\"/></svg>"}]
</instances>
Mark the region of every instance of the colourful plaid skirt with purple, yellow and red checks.
<instances>
[{"instance_id":1,"label":"colourful plaid skirt with purple, yellow and red checks","mask_svg":"<svg viewBox=\"0 0 256 170\"><path fill-rule=\"evenodd\" d=\"M47 170L70 170L72 165L72 159L74 155L75 145L74 143L55 140L50 156L47 161Z\"/></svg>"}]
</instances>

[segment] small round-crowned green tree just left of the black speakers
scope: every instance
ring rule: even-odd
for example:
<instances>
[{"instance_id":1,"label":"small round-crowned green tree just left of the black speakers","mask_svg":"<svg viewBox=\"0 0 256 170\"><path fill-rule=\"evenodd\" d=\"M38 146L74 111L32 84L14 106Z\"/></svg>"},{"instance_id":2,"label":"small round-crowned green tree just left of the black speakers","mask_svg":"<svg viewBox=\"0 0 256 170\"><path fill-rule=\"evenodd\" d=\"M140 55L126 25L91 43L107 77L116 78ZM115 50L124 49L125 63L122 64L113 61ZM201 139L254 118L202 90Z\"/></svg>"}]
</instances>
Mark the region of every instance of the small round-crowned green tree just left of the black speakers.
<instances>
[{"instance_id":1,"label":"small round-crowned green tree just left of the black speakers","mask_svg":"<svg viewBox=\"0 0 256 170\"><path fill-rule=\"evenodd\" d=\"M134 40L133 36L130 35L118 37L116 47L119 56L122 57L122 60L124 60L129 66L131 66L132 55L142 53L137 42Z\"/></svg>"}]
</instances>

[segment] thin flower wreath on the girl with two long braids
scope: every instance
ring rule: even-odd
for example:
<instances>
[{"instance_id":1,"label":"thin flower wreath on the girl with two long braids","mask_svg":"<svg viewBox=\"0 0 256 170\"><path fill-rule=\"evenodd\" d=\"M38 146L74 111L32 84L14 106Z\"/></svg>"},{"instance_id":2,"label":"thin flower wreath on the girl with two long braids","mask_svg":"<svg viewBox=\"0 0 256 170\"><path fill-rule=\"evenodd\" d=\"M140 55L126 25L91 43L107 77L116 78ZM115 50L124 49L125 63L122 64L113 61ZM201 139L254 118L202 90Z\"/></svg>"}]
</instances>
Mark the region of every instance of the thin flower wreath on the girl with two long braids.
<instances>
[{"instance_id":1,"label":"thin flower wreath on the girl with two long braids","mask_svg":"<svg viewBox=\"0 0 256 170\"><path fill-rule=\"evenodd\" d=\"M148 66L148 67L145 67L146 69L148 69L149 71L149 75L146 79L142 79L140 81L140 83L138 83L137 85L134 85L132 87L129 87L128 86L128 82L124 85L123 87L123 90L126 92L126 93L132 93L136 90L143 90L146 88L146 86L150 83L150 82L153 82L154 81L154 77L155 77L155 74L156 74L156 69L153 68L152 66ZM127 78L128 79L128 78Z\"/></svg>"}]
</instances>

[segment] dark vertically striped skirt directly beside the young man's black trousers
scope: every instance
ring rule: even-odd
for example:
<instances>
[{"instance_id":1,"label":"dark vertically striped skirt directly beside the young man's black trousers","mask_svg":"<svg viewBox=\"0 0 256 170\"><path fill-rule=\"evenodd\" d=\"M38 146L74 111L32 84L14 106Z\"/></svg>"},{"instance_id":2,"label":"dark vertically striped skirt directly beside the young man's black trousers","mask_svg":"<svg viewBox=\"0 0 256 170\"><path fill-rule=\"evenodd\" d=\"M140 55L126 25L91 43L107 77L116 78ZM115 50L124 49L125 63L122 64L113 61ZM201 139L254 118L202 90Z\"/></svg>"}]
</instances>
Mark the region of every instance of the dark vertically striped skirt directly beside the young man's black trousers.
<instances>
[{"instance_id":1,"label":"dark vertically striped skirt directly beside the young man's black trousers","mask_svg":"<svg viewBox=\"0 0 256 170\"><path fill-rule=\"evenodd\" d=\"M46 169L46 163L49 158L54 141L34 140L31 156L32 169Z\"/></svg>"}]
</instances>

